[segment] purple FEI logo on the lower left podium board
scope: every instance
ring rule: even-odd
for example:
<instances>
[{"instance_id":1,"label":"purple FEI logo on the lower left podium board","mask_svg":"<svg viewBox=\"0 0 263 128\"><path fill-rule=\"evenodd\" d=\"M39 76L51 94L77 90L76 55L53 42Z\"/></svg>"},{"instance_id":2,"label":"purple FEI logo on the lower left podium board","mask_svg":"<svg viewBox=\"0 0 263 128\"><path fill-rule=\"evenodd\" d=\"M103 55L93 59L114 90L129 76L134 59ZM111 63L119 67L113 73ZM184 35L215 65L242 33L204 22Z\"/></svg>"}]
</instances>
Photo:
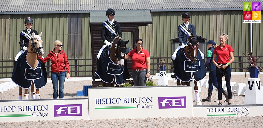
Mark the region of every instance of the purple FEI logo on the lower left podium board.
<instances>
[{"instance_id":1,"label":"purple FEI logo on the lower left podium board","mask_svg":"<svg viewBox=\"0 0 263 128\"><path fill-rule=\"evenodd\" d=\"M54 117L56 116L82 116L82 104L54 105Z\"/></svg>"}]
</instances>

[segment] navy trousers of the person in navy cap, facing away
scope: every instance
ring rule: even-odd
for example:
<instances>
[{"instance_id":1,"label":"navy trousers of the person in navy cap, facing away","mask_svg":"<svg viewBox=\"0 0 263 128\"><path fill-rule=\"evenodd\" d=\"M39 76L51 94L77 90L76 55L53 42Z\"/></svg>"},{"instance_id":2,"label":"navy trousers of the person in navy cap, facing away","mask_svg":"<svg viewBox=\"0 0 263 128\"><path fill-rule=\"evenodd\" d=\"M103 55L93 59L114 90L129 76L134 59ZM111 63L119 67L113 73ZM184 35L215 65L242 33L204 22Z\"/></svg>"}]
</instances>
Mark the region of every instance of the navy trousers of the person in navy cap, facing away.
<instances>
[{"instance_id":1,"label":"navy trousers of the person in navy cap, facing away","mask_svg":"<svg viewBox=\"0 0 263 128\"><path fill-rule=\"evenodd\" d=\"M209 79L208 79L208 95L212 95L213 92L213 85L216 89L218 89L218 83L216 78L215 71L209 71ZM221 88L222 93L225 92L223 88Z\"/></svg>"}]
</instances>

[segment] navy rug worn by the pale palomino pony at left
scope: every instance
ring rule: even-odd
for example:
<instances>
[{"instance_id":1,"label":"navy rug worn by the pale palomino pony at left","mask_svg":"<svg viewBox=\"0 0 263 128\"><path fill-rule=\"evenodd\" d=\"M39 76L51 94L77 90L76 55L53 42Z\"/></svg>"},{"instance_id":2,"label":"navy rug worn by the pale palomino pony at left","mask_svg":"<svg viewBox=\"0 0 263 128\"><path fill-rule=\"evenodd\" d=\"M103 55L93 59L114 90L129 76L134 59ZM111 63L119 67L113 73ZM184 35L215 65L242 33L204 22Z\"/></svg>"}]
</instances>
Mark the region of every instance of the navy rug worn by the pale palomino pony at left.
<instances>
[{"instance_id":1,"label":"navy rug worn by the pale palomino pony at left","mask_svg":"<svg viewBox=\"0 0 263 128\"><path fill-rule=\"evenodd\" d=\"M14 65L12 81L21 88L29 89L34 83L36 89L46 85L48 81L45 64L38 60L36 68L32 68L26 61L27 52L21 54Z\"/></svg>"}]
</instances>

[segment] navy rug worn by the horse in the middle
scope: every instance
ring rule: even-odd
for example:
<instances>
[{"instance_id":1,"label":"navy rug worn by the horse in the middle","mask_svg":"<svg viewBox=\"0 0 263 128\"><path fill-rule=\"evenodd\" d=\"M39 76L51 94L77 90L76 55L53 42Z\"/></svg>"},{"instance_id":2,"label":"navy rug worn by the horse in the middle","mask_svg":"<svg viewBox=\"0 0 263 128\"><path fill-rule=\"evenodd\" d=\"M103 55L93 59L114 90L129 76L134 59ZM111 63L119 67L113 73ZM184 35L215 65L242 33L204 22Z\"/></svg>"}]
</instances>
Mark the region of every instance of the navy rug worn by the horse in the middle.
<instances>
[{"instance_id":1,"label":"navy rug worn by the horse in the middle","mask_svg":"<svg viewBox=\"0 0 263 128\"><path fill-rule=\"evenodd\" d=\"M127 69L127 60L124 60L124 65L120 66L119 62L115 64L111 58L109 49L112 45L105 47L100 54L100 59L97 59L97 71L95 72L100 80L105 83L115 83L117 85L123 83L129 76ZM114 47L114 46L113 46Z\"/></svg>"}]
</instances>

